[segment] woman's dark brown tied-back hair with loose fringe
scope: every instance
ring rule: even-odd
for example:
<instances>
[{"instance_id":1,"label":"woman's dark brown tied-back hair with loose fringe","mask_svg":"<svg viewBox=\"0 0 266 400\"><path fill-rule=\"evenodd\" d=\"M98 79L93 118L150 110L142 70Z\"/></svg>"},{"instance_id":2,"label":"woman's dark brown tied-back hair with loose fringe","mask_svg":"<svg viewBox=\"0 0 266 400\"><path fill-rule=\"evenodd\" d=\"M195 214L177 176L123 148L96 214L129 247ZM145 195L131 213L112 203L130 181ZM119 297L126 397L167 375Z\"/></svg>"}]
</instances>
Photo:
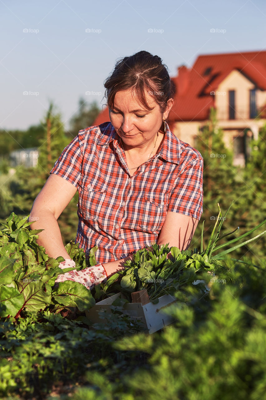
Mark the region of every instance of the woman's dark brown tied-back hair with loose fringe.
<instances>
[{"instance_id":1,"label":"woman's dark brown tied-back hair with loose fringe","mask_svg":"<svg viewBox=\"0 0 266 400\"><path fill-rule=\"evenodd\" d=\"M137 99L147 108L145 90L165 112L167 102L173 98L174 86L168 68L158 56L142 50L116 62L113 72L104 82L105 97L109 108L113 108L115 94L119 90L132 89Z\"/></svg>"}]
</instances>

